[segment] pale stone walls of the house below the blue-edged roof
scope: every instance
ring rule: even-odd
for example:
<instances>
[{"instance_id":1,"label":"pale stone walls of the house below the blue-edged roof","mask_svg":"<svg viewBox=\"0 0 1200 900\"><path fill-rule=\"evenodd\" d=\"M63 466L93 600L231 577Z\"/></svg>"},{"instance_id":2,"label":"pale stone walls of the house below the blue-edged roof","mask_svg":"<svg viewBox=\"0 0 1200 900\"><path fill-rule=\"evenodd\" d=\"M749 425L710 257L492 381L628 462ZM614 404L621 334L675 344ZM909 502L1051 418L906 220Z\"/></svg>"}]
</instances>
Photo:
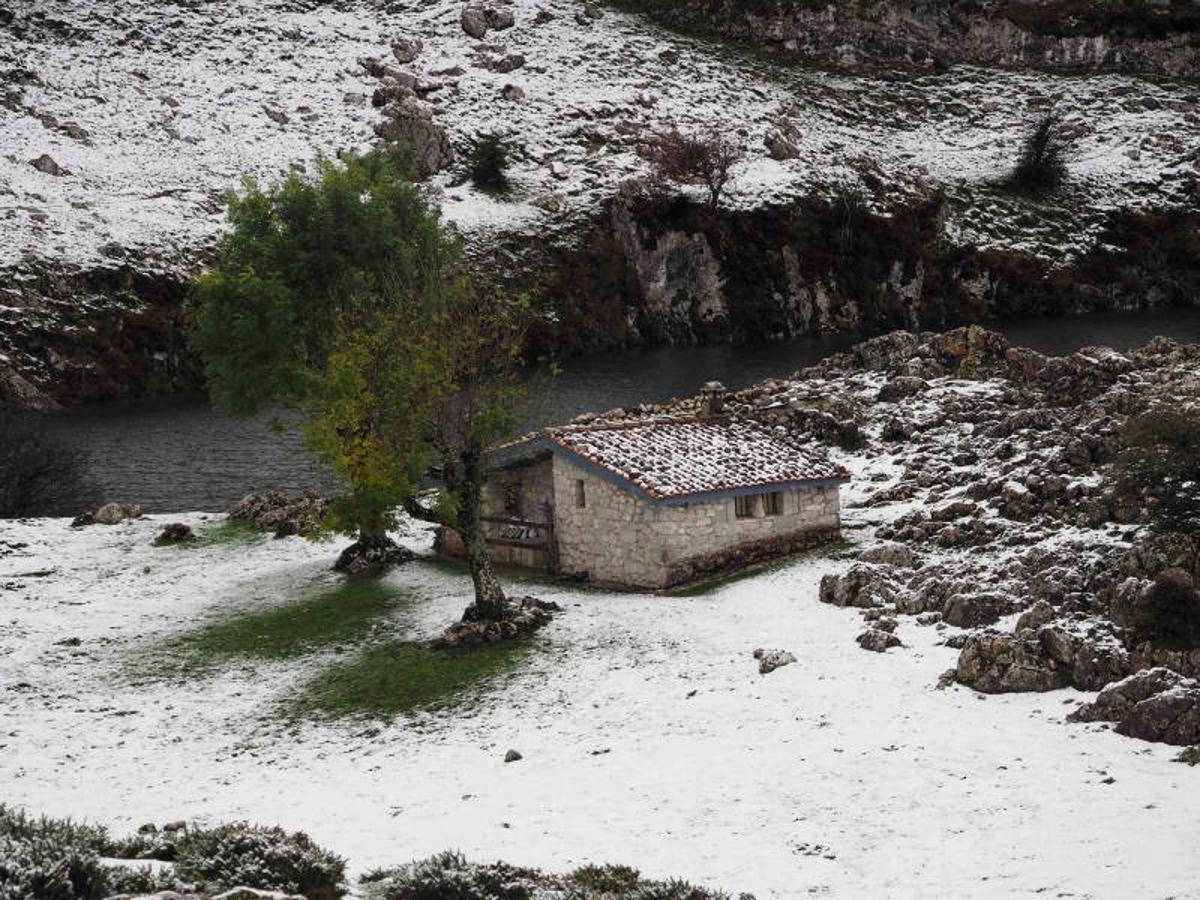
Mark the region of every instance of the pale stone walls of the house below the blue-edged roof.
<instances>
[{"instance_id":1,"label":"pale stone walls of the house below the blue-edged roof","mask_svg":"<svg viewBox=\"0 0 1200 900\"><path fill-rule=\"evenodd\" d=\"M668 587L835 539L840 526L836 486L787 491L780 515L763 515L757 505L756 515L739 518L733 498L652 505L560 456L553 481L559 570L596 582Z\"/></svg>"}]
</instances>

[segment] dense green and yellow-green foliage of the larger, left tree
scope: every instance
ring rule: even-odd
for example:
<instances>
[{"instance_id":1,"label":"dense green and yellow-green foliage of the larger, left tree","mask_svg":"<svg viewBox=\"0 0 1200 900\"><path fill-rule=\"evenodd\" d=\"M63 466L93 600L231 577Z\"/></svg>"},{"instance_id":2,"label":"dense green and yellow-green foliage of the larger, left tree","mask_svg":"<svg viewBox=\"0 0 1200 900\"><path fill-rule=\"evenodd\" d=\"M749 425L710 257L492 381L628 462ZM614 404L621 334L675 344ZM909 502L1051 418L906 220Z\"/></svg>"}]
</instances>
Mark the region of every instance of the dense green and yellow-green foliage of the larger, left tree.
<instances>
[{"instance_id":1,"label":"dense green and yellow-green foliage of the larger, left tree","mask_svg":"<svg viewBox=\"0 0 1200 900\"><path fill-rule=\"evenodd\" d=\"M265 190L246 181L191 307L214 402L302 410L308 446L349 485L329 526L350 534L391 527L419 481L446 379L416 338L469 293L410 172L408 156L376 151Z\"/></svg>"}]
</instances>

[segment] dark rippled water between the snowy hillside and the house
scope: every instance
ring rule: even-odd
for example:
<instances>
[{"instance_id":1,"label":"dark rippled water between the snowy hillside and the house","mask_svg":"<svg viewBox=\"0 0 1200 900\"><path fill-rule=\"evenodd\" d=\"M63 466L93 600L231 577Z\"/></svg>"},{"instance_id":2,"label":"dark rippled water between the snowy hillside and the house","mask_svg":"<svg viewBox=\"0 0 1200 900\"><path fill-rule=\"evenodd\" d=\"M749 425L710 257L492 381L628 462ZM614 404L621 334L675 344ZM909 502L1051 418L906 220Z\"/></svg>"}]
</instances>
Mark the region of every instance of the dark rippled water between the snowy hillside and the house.
<instances>
[{"instance_id":1,"label":"dark rippled water between the snowy hillside and the house","mask_svg":"<svg viewBox=\"0 0 1200 900\"><path fill-rule=\"evenodd\" d=\"M1088 344L1126 350L1156 335L1200 342L1200 308L1056 317L997 330L1014 344L1043 353ZM662 347L572 359L563 374L539 386L523 425L688 396L713 379L744 388L788 376L858 340ZM150 512L223 510L251 491L328 486L296 433L276 433L265 420L220 415L200 396L71 409L55 415L53 427L89 452L103 497L139 503Z\"/></svg>"}]
</instances>

